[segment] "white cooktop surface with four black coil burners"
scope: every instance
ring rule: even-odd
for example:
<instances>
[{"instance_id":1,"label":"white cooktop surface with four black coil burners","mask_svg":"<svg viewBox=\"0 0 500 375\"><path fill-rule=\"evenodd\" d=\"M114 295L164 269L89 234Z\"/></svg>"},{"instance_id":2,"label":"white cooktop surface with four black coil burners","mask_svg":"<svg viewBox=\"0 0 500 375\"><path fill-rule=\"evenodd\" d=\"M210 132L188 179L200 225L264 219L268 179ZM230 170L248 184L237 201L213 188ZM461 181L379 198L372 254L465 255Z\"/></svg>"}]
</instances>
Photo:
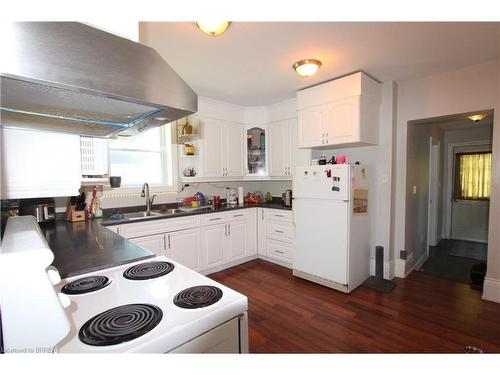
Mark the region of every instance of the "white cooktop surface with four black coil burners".
<instances>
[{"instance_id":1,"label":"white cooktop surface with four black coil burners","mask_svg":"<svg viewBox=\"0 0 500 375\"><path fill-rule=\"evenodd\" d=\"M162 275L138 282L125 276L132 269ZM166 353L247 310L244 295L163 256L68 278L59 287L95 276L111 282L69 295L71 331L57 352Z\"/></svg>"}]
</instances>

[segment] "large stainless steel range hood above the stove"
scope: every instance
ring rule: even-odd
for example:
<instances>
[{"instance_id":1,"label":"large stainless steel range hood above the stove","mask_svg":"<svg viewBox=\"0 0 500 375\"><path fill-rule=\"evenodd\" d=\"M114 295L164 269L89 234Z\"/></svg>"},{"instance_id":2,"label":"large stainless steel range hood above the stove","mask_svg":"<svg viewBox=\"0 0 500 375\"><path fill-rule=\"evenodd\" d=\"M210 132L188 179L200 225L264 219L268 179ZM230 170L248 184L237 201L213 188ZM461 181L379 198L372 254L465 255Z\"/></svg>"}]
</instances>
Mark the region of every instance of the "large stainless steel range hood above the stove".
<instances>
[{"instance_id":1,"label":"large stainless steel range hood above the stove","mask_svg":"<svg viewBox=\"0 0 500 375\"><path fill-rule=\"evenodd\" d=\"M150 47L76 22L6 28L2 127L109 138L197 111L196 93Z\"/></svg>"}]
</instances>

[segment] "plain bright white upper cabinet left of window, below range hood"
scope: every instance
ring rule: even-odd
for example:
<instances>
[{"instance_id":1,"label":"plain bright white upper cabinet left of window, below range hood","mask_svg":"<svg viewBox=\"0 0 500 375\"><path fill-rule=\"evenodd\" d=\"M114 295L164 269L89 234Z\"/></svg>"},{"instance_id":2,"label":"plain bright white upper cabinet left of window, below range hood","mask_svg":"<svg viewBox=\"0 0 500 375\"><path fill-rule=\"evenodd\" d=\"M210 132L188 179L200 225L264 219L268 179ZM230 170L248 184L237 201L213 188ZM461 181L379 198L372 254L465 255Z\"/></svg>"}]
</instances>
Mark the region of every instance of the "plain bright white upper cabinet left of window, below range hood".
<instances>
[{"instance_id":1,"label":"plain bright white upper cabinet left of window, below range hood","mask_svg":"<svg viewBox=\"0 0 500 375\"><path fill-rule=\"evenodd\" d=\"M1 129L2 199L78 195L80 137Z\"/></svg>"}]
</instances>

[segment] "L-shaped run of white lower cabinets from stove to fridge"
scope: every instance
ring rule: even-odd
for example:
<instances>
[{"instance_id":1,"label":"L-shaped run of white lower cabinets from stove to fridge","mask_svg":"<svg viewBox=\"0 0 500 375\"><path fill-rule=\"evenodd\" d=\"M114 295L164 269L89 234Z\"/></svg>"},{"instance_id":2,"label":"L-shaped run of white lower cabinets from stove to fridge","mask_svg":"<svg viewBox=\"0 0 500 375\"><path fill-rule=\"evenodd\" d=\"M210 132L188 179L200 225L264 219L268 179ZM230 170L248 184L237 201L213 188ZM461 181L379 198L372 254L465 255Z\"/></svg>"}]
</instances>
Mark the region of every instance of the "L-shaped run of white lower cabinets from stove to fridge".
<instances>
[{"instance_id":1,"label":"L-shaped run of white lower cabinets from stove to fridge","mask_svg":"<svg viewBox=\"0 0 500 375\"><path fill-rule=\"evenodd\" d=\"M192 221L190 228L186 228L188 220ZM287 265L293 253L291 212L282 210L248 208L108 228L155 255L165 255L204 273L222 270L257 254Z\"/></svg>"}]
</instances>

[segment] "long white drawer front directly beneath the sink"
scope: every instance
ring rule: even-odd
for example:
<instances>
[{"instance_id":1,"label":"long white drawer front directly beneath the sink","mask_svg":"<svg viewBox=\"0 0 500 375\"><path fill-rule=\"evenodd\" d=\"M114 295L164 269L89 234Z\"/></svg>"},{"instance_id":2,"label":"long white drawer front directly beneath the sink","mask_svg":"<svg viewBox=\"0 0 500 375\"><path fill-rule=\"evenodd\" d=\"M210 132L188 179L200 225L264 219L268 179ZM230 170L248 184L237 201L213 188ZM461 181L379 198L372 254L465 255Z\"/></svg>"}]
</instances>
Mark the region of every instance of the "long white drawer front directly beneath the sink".
<instances>
[{"instance_id":1,"label":"long white drawer front directly beneath the sink","mask_svg":"<svg viewBox=\"0 0 500 375\"><path fill-rule=\"evenodd\" d=\"M125 238L149 236L197 227L199 216L186 216L177 219L160 219L120 225L120 235Z\"/></svg>"}]
</instances>

